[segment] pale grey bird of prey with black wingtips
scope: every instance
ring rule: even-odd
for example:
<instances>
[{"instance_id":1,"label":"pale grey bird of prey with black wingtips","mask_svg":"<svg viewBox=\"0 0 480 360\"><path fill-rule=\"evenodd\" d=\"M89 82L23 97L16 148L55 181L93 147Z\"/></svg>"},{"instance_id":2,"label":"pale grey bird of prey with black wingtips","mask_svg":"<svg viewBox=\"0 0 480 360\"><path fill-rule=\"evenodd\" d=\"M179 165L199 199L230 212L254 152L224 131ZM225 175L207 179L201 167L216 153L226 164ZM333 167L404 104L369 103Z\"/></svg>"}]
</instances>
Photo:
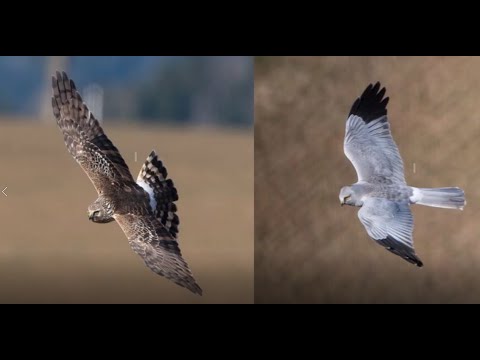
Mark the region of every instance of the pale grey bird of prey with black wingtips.
<instances>
[{"instance_id":1,"label":"pale grey bird of prey with black wingtips","mask_svg":"<svg viewBox=\"0 0 480 360\"><path fill-rule=\"evenodd\" d=\"M358 181L340 190L341 205L360 207L368 235L406 261L423 266L413 248L411 204L463 210L458 187L416 188L405 182L403 162L387 120L385 88L370 84L355 100L347 119L344 152Z\"/></svg>"}]
</instances>

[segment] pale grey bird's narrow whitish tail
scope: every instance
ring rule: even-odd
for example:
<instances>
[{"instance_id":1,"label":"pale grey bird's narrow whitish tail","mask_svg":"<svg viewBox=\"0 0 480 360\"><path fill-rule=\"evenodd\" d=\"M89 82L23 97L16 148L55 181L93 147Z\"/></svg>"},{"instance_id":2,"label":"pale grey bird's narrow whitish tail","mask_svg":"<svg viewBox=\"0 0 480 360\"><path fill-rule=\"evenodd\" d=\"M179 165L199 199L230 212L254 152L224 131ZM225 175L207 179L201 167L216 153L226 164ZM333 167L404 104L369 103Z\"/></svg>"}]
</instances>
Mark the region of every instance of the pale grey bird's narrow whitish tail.
<instances>
[{"instance_id":1,"label":"pale grey bird's narrow whitish tail","mask_svg":"<svg viewBox=\"0 0 480 360\"><path fill-rule=\"evenodd\" d=\"M458 187L422 189L412 187L410 200L414 204L463 210L466 205L465 193Z\"/></svg>"}]
</instances>

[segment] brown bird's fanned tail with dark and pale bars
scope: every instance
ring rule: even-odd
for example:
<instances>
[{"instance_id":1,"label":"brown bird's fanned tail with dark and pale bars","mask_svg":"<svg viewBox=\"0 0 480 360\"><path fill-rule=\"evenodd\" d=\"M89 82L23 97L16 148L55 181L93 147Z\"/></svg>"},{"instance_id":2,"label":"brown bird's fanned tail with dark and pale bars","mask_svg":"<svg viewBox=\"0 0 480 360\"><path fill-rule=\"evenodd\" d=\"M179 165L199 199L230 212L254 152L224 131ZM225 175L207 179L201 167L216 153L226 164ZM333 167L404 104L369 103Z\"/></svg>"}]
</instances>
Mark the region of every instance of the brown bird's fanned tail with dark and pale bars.
<instances>
[{"instance_id":1,"label":"brown bird's fanned tail with dark and pale bars","mask_svg":"<svg viewBox=\"0 0 480 360\"><path fill-rule=\"evenodd\" d=\"M177 206L174 202L178 200L178 193L173 181L167 179L167 175L167 169L153 150L145 160L137 182L143 181L152 189L156 202L156 208L153 209L155 217L174 238L177 238L180 219L176 214Z\"/></svg>"}]
</instances>

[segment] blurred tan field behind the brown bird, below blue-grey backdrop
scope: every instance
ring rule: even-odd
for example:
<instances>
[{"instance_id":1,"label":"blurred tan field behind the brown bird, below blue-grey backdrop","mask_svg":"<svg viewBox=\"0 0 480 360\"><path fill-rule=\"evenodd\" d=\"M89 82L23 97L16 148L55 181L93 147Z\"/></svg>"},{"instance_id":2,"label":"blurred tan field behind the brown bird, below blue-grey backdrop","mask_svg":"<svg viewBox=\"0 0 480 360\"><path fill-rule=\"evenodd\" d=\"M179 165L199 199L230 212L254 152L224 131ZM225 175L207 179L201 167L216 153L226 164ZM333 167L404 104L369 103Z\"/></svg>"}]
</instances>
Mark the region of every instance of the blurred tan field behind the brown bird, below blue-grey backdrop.
<instances>
[{"instance_id":1,"label":"blurred tan field behind the brown bird, below blue-grey backdrop","mask_svg":"<svg viewBox=\"0 0 480 360\"><path fill-rule=\"evenodd\" d=\"M152 273L116 223L88 220L96 191L53 119L0 120L1 303L253 302L251 131L103 125L134 178L152 149L167 167L199 297Z\"/></svg>"}]
</instances>

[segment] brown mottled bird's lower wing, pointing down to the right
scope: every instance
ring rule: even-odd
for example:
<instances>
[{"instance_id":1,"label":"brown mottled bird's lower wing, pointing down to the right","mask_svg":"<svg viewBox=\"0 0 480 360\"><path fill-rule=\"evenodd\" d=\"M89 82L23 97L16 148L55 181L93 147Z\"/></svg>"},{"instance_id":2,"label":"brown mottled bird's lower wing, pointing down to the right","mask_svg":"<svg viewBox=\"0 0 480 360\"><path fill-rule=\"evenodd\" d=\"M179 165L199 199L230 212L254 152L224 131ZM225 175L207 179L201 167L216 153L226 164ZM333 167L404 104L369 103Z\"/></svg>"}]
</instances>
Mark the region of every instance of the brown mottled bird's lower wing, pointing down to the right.
<instances>
[{"instance_id":1,"label":"brown mottled bird's lower wing, pointing down to the right","mask_svg":"<svg viewBox=\"0 0 480 360\"><path fill-rule=\"evenodd\" d=\"M188 264L182 258L177 240L152 215L114 215L127 235L132 249L142 257L153 272L202 295Z\"/></svg>"}]
</instances>

